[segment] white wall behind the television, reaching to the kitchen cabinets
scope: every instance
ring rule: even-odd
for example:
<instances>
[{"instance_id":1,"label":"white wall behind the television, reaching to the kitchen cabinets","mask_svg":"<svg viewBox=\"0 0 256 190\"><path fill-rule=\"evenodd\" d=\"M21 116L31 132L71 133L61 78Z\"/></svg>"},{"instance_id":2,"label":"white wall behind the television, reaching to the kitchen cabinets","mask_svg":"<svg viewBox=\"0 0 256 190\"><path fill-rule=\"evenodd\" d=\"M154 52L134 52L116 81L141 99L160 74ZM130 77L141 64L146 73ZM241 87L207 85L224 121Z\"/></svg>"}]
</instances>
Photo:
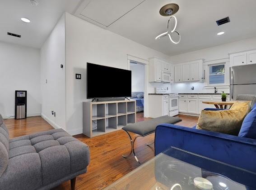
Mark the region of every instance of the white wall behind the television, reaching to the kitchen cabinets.
<instances>
[{"instance_id":1,"label":"white wall behind the television, reaching to the kitchen cabinets","mask_svg":"<svg viewBox=\"0 0 256 190\"><path fill-rule=\"evenodd\" d=\"M127 54L146 60L154 56L170 59L168 55L66 13L66 129L70 134L82 133L82 102L88 101L86 63L128 69ZM76 80L75 73L82 74L82 79Z\"/></svg>"}]
</instances>

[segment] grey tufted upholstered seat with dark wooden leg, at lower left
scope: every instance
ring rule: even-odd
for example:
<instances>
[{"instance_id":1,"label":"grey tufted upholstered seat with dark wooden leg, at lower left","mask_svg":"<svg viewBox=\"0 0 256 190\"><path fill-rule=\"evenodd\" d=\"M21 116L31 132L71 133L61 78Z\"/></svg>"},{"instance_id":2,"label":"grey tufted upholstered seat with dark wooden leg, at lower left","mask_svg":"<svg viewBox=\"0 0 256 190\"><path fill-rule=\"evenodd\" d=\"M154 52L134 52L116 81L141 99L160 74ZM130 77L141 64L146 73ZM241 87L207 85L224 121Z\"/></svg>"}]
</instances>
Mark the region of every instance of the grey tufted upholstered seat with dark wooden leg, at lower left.
<instances>
[{"instance_id":1,"label":"grey tufted upholstered seat with dark wooden leg, at lower left","mask_svg":"<svg viewBox=\"0 0 256 190\"><path fill-rule=\"evenodd\" d=\"M89 148L63 129L9 140L0 115L0 190L49 190L85 173Z\"/></svg>"}]
</instances>

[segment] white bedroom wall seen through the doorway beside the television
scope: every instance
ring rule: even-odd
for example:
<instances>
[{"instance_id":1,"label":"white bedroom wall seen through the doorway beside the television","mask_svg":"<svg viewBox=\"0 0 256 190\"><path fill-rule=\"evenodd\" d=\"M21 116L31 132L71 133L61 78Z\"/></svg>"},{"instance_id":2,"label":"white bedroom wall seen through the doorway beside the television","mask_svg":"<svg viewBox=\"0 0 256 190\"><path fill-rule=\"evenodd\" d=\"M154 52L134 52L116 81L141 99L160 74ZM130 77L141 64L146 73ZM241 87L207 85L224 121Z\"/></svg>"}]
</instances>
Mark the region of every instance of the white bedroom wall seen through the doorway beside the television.
<instances>
[{"instance_id":1,"label":"white bedroom wall seen through the doorway beside the television","mask_svg":"<svg viewBox=\"0 0 256 190\"><path fill-rule=\"evenodd\" d=\"M145 66L131 64L131 92L144 92L145 89Z\"/></svg>"}]
</instances>

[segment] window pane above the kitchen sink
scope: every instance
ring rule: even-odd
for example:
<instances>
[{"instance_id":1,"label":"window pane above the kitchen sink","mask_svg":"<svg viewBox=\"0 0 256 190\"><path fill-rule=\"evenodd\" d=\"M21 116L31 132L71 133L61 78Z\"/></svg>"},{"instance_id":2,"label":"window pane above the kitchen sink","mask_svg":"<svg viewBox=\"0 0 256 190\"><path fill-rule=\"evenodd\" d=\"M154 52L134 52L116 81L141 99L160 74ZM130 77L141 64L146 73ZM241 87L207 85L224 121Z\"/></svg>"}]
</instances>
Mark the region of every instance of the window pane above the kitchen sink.
<instances>
[{"instance_id":1,"label":"window pane above the kitchen sink","mask_svg":"<svg viewBox=\"0 0 256 190\"><path fill-rule=\"evenodd\" d=\"M209 66L209 84L225 83L225 65Z\"/></svg>"}]
</instances>

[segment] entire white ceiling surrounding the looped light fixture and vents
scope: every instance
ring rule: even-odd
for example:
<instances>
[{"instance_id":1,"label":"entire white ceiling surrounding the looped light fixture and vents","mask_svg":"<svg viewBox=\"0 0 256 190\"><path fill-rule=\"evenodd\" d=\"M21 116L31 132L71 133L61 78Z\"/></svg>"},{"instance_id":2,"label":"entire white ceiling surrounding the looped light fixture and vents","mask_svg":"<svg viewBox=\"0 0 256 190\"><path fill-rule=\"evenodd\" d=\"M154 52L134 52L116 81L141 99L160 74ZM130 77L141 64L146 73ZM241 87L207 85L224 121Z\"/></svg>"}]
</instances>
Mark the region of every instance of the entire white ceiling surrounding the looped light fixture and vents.
<instances>
[{"instance_id":1,"label":"entire white ceiling surrounding the looped light fixture and vents","mask_svg":"<svg viewBox=\"0 0 256 190\"><path fill-rule=\"evenodd\" d=\"M0 0L0 40L40 48L61 14L66 11L116 34L158 50L176 55L256 36L256 0ZM175 14L182 40L172 44L165 37L168 17L159 9L168 3L180 6ZM216 20L229 16L227 24ZM31 19L23 23L21 17ZM22 35L21 39L7 32ZM219 31L224 35L218 36Z\"/></svg>"}]
</instances>

